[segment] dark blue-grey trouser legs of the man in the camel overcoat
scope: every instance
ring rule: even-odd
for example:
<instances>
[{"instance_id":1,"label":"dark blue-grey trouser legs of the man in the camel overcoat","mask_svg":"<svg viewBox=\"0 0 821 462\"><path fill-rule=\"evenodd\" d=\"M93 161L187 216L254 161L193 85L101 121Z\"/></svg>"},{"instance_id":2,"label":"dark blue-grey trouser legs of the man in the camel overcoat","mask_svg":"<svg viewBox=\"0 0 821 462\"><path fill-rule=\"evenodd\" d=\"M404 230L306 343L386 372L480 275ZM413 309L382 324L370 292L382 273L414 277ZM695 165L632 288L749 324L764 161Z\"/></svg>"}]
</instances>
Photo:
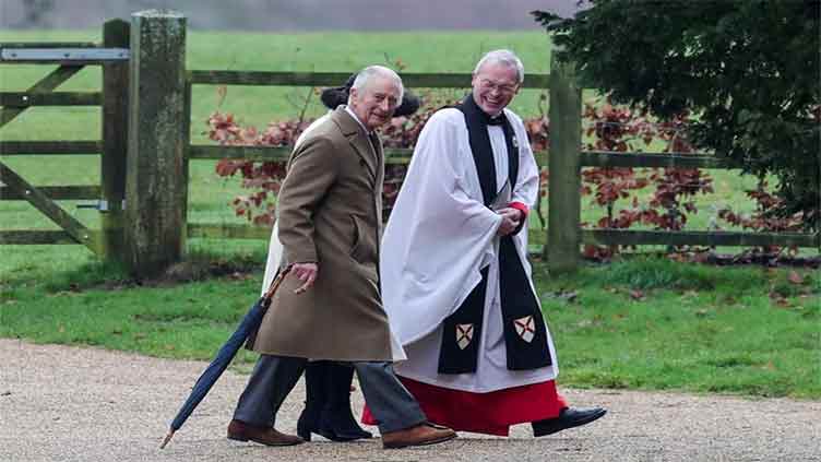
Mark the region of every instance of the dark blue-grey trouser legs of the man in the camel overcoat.
<instances>
[{"instance_id":1,"label":"dark blue-grey trouser legs of the man in the camel overcoat","mask_svg":"<svg viewBox=\"0 0 821 462\"><path fill-rule=\"evenodd\" d=\"M251 425L274 426L276 412L294 389L308 359L289 356L260 355L239 396L234 418ZM402 430L427 422L416 399L396 378L391 363L356 362L365 401L379 420L382 434Z\"/></svg>"}]
</instances>

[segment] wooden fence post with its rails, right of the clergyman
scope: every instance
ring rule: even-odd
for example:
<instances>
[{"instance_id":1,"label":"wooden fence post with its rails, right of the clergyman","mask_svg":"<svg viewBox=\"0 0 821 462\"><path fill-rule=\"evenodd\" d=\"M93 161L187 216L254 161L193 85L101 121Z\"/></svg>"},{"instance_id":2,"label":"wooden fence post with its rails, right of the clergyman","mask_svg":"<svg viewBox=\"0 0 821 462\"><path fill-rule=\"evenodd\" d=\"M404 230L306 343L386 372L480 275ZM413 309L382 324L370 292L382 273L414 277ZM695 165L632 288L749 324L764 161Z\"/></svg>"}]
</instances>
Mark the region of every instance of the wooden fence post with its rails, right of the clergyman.
<instances>
[{"instance_id":1,"label":"wooden fence post with its rails, right of the clergyman","mask_svg":"<svg viewBox=\"0 0 821 462\"><path fill-rule=\"evenodd\" d=\"M572 63L550 63L549 209L545 256L551 272L579 268L582 244L796 246L821 248L821 235L801 233L671 232L582 229L582 167L739 168L726 158L704 154L614 153L580 151L582 88Z\"/></svg>"}]
</instances>

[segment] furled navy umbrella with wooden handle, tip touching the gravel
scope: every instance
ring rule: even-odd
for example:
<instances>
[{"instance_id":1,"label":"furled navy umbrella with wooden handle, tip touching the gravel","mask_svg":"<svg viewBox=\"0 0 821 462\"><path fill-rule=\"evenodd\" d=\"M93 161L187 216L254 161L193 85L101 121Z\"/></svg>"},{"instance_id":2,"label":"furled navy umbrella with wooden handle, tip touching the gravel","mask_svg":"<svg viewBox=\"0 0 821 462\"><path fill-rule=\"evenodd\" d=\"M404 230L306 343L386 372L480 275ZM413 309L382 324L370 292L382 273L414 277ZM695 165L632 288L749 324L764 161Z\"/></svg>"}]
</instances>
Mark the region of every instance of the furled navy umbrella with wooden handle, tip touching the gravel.
<instances>
[{"instance_id":1,"label":"furled navy umbrella with wooden handle, tip touching the gravel","mask_svg":"<svg viewBox=\"0 0 821 462\"><path fill-rule=\"evenodd\" d=\"M283 279L285 279L285 275L288 274L288 271L290 271L290 266L279 272L276 279L271 283L271 287L267 292L260 297L253 307L251 307L246 317L242 318L242 321L239 323L237 331L231 334L227 342L225 342L225 345L219 348L209 367L206 367L200 378L197 379L197 383L194 383L193 389L191 389L191 394L188 396L185 404L182 404L182 407L180 407L177 416L174 417L171 428L168 430L168 435L166 435L159 449L163 449L168 445L168 441L174 437L174 433L180 429L182 424L186 423L186 419L188 419L194 411L194 407L200 404L200 401L205 398L205 394L211 390L211 387L213 387L219 376L223 375L231 359L234 359L234 356L237 355L237 351L242 346L246 339L248 339L252 332L257 331L262 322L262 317L265 316L265 311L267 311L267 307L271 305L271 298L274 296L274 293L276 293L276 289L279 287Z\"/></svg>"}]
</instances>

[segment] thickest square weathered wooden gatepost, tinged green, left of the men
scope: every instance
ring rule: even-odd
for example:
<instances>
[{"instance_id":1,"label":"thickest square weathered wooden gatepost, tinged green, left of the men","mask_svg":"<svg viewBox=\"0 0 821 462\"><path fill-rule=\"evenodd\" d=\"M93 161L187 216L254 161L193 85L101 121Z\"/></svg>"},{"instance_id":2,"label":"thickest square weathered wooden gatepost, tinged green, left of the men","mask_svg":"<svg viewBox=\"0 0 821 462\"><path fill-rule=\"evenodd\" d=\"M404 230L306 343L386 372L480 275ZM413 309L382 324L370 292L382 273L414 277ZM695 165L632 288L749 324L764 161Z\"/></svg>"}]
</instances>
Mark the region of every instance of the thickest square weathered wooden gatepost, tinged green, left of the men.
<instances>
[{"instance_id":1,"label":"thickest square weathered wooden gatepost, tinged green, left of the men","mask_svg":"<svg viewBox=\"0 0 821 462\"><path fill-rule=\"evenodd\" d=\"M185 90L186 17L167 10L132 14L126 263L136 276L160 273L185 249Z\"/></svg>"}]
</instances>

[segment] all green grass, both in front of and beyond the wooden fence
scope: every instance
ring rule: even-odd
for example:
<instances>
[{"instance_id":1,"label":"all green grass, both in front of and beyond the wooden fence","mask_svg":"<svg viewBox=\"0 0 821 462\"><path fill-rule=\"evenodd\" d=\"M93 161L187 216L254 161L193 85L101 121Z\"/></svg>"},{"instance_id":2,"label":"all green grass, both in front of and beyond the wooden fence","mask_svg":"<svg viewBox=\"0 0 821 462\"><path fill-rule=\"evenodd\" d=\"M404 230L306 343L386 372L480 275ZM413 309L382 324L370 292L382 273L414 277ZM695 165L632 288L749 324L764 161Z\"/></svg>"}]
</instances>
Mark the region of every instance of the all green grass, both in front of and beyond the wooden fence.
<instances>
[{"instance_id":1,"label":"all green grass, both in front of and beyond the wooden fence","mask_svg":"<svg viewBox=\"0 0 821 462\"><path fill-rule=\"evenodd\" d=\"M91 32L0 31L0 42L98 40ZM401 59L408 72L469 72L481 52L514 49L528 71L547 72L549 43L540 33L294 34L190 32L189 69L353 71ZM45 67L0 67L0 91L25 90ZM87 69L60 90L99 88ZM219 110L264 126L294 117L307 88L230 87ZM194 94L192 133L204 142L215 87ZM514 110L536 115L535 93ZM314 100L309 114L323 111ZM0 129L2 140L93 140L99 110L35 108ZM0 153L1 154L1 153ZM3 156L34 185L94 185L94 156ZM214 174L214 162L191 164L189 220L243 223L228 202L236 179ZM705 229L719 204L750 211L743 189L754 179L714 170L714 194L698 199L701 213L688 229ZM97 212L61 204L90 227ZM546 209L545 209L546 210ZM604 213L585 198L582 220ZM534 218L533 225L538 222ZM534 241L545 232L533 226ZM56 228L25 202L0 202L0 229ZM0 248L0 336L91 344L175 358L207 358L255 299L265 259L263 240L189 242L200 268L227 276L163 286L136 286L80 246ZM724 250L724 249L723 249ZM737 250L737 249L736 249ZM817 251L814 251L817 254ZM203 273L207 272L205 270ZM559 350L562 383L576 387L675 389L761 396L821 399L821 279L817 273L760 268L709 268L629 259L549 277L535 265L538 292ZM799 281L799 282L795 282ZM251 355L241 356L242 364Z\"/></svg>"}]
</instances>

